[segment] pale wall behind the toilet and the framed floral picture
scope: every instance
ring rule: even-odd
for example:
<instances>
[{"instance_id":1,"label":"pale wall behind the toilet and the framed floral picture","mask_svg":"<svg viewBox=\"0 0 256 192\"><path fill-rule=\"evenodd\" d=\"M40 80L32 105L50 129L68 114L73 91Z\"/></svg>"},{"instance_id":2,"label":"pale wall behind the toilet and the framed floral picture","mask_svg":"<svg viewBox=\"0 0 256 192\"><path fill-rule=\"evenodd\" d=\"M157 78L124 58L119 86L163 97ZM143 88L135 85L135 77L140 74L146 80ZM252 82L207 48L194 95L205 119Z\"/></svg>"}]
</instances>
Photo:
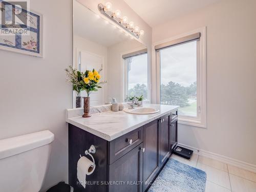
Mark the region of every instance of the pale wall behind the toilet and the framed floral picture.
<instances>
[{"instance_id":1,"label":"pale wall behind the toilet and the framed floral picture","mask_svg":"<svg viewBox=\"0 0 256 192\"><path fill-rule=\"evenodd\" d=\"M0 139L46 129L55 135L48 188L68 181L65 109L72 107L72 87L65 68L72 64L72 1L30 0L30 6L44 15L45 57L0 50Z\"/></svg>"}]
</instances>

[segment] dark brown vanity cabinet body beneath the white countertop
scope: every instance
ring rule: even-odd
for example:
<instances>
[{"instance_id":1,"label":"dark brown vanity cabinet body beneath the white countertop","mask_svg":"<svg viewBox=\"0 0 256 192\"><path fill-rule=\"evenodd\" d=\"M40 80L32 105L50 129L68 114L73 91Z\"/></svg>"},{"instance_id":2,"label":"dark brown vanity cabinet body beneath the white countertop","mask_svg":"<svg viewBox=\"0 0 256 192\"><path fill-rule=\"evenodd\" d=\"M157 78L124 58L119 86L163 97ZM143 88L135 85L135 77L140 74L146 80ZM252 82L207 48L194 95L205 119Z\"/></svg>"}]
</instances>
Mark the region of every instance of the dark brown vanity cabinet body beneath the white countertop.
<instances>
[{"instance_id":1,"label":"dark brown vanity cabinet body beneath the white countertop","mask_svg":"<svg viewBox=\"0 0 256 192\"><path fill-rule=\"evenodd\" d=\"M177 118L177 111L168 113L112 141L69 124L69 184L74 192L147 191L177 143ZM76 166L92 144L96 168L84 189Z\"/></svg>"}]
</instances>

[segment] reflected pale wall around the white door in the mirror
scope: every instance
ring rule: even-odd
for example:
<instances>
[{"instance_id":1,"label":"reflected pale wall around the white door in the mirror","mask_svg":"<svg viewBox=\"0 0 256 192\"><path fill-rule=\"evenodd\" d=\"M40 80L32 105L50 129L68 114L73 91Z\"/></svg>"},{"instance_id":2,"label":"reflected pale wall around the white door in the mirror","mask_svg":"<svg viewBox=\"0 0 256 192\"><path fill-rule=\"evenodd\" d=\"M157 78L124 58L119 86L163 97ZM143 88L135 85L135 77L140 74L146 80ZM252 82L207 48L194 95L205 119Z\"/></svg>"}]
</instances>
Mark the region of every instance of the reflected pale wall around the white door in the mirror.
<instances>
[{"instance_id":1,"label":"reflected pale wall around the white door in the mirror","mask_svg":"<svg viewBox=\"0 0 256 192\"><path fill-rule=\"evenodd\" d=\"M99 44L96 44L95 42L88 40L86 38L80 37L78 35L74 35L74 65L77 67L77 52L78 51L88 51L90 53L94 53L96 55L100 55L103 57L103 71L102 71L102 79L101 80L107 80L108 79L108 48ZM108 83L104 84L102 86L102 89L104 90L104 101L108 101L107 97L107 90L108 90Z\"/></svg>"}]
</instances>

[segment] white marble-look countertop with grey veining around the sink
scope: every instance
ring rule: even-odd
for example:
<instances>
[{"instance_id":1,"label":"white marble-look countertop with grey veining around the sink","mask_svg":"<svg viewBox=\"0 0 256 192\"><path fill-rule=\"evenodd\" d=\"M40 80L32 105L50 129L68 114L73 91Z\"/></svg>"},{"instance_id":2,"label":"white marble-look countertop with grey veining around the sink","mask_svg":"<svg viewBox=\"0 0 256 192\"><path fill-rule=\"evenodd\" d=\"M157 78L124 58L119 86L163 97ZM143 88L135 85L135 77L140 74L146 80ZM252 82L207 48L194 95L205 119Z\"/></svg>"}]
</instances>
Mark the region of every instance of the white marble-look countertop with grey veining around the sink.
<instances>
[{"instance_id":1,"label":"white marble-look countertop with grey veining around the sink","mask_svg":"<svg viewBox=\"0 0 256 192\"><path fill-rule=\"evenodd\" d=\"M144 106L150 106L160 112L136 115L124 111L105 111L94 113L90 118L82 118L82 108L69 109L66 110L66 122L102 139L111 141L179 108L179 106L162 104L145 104Z\"/></svg>"}]
</instances>

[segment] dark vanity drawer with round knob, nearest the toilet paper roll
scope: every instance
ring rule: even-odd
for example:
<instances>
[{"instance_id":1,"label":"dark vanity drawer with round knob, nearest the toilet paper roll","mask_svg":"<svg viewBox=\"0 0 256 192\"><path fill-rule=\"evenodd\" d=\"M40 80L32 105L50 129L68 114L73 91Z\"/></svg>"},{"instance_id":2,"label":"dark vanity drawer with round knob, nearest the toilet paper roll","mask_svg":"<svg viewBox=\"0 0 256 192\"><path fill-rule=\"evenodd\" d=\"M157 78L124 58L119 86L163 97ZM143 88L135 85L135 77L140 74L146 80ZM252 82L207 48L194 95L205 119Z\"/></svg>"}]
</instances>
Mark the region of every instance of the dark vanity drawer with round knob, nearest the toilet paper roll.
<instances>
[{"instance_id":1,"label":"dark vanity drawer with round knob, nearest the toilet paper roll","mask_svg":"<svg viewBox=\"0 0 256 192\"><path fill-rule=\"evenodd\" d=\"M143 142L143 127L129 132L121 137L108 142L108 164L112 164L117 159L133 150L138 144Z\"/></svg>"}]
</instances>

